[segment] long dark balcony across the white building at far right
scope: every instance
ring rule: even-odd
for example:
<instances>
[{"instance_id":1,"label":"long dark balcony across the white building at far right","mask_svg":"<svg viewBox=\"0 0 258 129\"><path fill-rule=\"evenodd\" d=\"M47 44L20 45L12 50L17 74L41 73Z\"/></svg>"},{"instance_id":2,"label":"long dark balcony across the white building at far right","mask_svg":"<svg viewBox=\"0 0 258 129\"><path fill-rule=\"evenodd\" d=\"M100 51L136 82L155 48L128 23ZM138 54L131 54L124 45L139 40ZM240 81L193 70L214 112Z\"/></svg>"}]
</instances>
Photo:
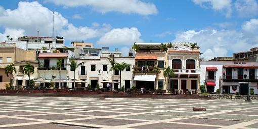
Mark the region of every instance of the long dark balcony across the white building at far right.
<instances>
[{"instance_id":1,"label":"long dark balcony across the white building at far right","mask_svg":"<svg viewBox=\"0 0 258 129\"><path fill-rule=\"evenodd\" d=\"M232 75L223 75L223 81L250 81L250 82L258 82L258 76L246 76L244 79L243 75L232 76Z\"/></svg>"}]
</instances>

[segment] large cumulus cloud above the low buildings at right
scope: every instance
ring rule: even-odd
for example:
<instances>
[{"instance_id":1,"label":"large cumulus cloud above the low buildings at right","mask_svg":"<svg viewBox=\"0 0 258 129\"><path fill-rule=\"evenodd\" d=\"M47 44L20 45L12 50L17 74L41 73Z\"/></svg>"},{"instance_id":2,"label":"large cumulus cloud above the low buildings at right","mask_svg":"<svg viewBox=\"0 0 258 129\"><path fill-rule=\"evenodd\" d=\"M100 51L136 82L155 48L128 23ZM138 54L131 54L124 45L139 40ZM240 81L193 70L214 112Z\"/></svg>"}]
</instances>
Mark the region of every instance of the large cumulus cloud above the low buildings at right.
<instances>
[{"instance_id":1,"label":"large cumulus cloud above the low buildings at right","mask_svg":"<svg viewBox=\"0 0 258 129\"><path fill-rule=\"evenodd\" d=\"M242 24L240 30L201 29L178 32L176 42L198 42L202 58L205 60L213 57L227 56L231 52L247 51L258 46L257 43L258 19L251 19ZM256 32L251 35L250 33ZM244 46L244 47L243 47Z\"/></svg>"}]
</instances>

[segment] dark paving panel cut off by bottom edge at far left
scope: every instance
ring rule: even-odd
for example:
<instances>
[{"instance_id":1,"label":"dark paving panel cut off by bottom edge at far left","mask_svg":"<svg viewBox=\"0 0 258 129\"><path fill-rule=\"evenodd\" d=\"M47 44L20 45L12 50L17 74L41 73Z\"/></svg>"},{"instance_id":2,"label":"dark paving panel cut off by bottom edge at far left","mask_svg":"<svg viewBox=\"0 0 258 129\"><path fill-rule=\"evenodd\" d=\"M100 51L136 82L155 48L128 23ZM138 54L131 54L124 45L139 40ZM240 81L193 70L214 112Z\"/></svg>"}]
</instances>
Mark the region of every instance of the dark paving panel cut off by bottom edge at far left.
<instances>
[{"instance_id":1,"label":"dark paving panel cut off by bottom edge at far left","mask_svg":"<svg viewBox=\"0 0 258 129\"><path fill-rule=\"evenodd\" d=\"M1 127L0 127L1 128ZM24 126L13 126L13 127L3 127L3 129L88 129L88 127L79 127L79 126L69 126L69 125L60 125L60 124L33 124L33 125L24 125Z\"/></svg>"}]
</instances>

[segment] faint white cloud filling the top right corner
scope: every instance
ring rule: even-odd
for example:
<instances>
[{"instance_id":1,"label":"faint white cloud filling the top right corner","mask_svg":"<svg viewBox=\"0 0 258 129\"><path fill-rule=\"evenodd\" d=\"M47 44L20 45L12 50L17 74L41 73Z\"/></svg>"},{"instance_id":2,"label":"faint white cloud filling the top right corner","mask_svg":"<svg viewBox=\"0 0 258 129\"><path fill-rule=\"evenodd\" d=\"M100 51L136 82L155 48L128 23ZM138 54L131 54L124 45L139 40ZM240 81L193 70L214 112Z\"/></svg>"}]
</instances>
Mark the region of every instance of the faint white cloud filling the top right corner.
<instances>
[{"instance_id":1,"label":"faint white cloud filling the top right corner","mask_svg":"<svg viewBox=\"0 0 258 129\"><path fill-rule=\"evenodd\" d=\"M258 2L255 0L237 0L235 8L240 17L253 17L258 15Z\"/></svg>"}]
</instances>

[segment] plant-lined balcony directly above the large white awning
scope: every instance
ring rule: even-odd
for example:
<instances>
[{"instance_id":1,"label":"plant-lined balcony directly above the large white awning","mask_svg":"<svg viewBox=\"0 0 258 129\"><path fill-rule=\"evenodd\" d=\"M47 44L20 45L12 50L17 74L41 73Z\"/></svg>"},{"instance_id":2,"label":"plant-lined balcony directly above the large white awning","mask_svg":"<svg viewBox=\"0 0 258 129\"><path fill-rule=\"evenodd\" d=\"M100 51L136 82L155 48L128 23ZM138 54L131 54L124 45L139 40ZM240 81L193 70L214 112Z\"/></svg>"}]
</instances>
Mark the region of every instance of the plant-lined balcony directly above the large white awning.
<instances>
[{"instance_id":1,"label":"plant-lined balcony directly above the large white awning","mask_svg":"<svg viewBox=\"0 0 258 129\"><path fill-rule=\"evenodd\" d=\"M134 71L135 74L157 74L159 73L159 69L158 67L153 67L153 66L149 66L148 69L144 68L142 69L142 67L134 67Z\"/></svg>"}]
</instances>

